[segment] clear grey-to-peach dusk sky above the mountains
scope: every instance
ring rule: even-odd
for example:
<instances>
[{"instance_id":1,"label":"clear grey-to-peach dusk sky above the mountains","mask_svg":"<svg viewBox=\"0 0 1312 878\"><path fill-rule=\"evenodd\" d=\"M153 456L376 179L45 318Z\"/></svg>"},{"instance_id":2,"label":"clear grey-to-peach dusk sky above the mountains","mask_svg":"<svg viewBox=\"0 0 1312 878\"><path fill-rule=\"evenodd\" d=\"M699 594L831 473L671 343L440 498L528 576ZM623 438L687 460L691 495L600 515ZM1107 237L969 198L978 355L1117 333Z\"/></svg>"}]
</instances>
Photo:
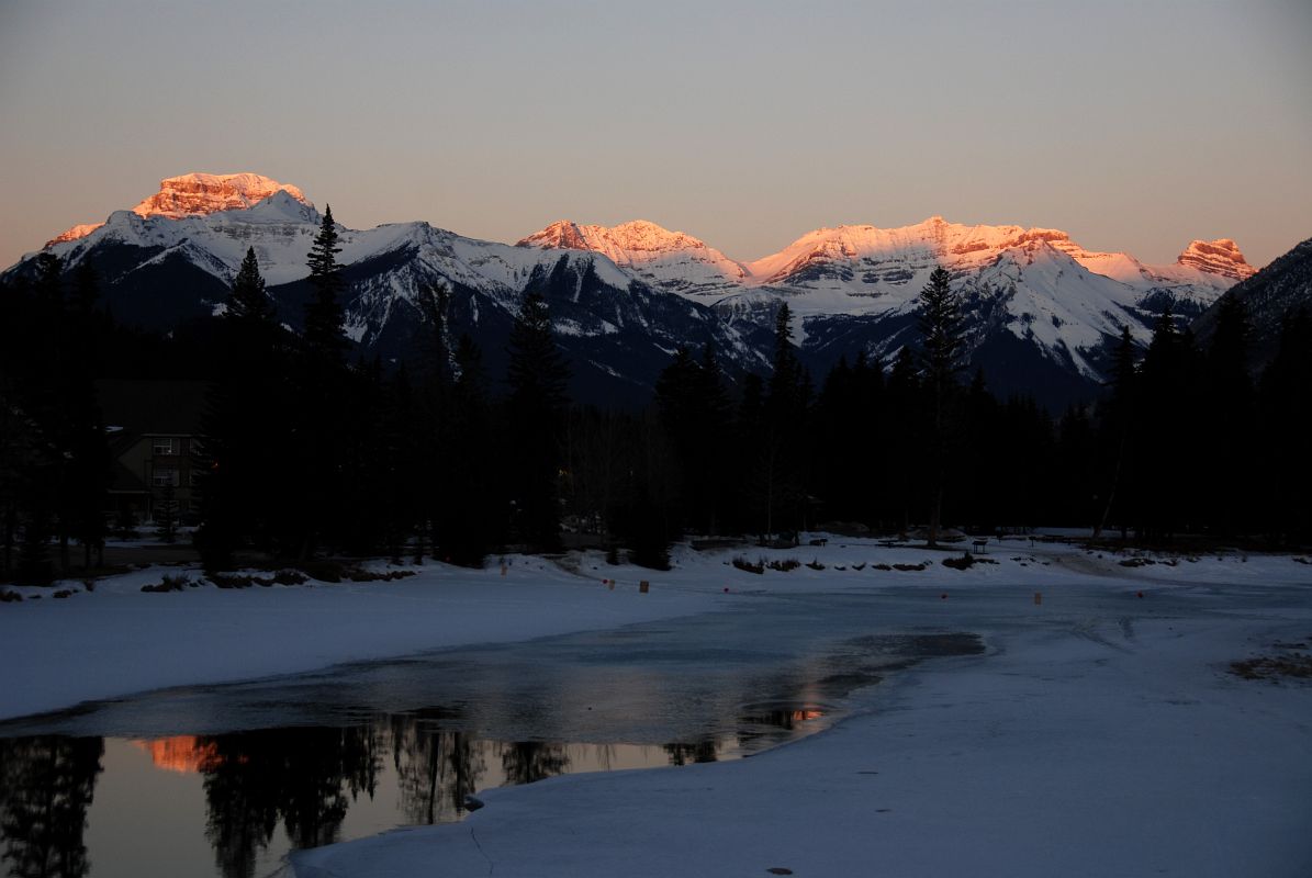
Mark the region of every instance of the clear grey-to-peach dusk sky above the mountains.
<instances>
[{"instance_id":1,"label":"clear grey-to-peach dusk sky above the mountains","mask_svg":"<svg viewBox=\"0 0 1312 878\"><path fill-rule=\"evenodd\" d=\"M1312 236L1308 0L0 0L0 265L249 171L353 228Z\"/></svg>"}]
</instances>

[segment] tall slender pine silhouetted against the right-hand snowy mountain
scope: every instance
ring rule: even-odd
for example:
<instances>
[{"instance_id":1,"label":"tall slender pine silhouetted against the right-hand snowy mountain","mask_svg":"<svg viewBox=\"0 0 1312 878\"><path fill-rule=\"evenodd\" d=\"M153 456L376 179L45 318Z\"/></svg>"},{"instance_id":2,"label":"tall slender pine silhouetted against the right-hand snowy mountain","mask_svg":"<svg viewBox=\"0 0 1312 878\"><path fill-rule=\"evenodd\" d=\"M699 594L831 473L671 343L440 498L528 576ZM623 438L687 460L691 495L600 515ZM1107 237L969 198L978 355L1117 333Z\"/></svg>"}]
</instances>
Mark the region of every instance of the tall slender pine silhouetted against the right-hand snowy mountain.
<instances>
[{"instance_id":1,"label":"tall slender pine silhouetted against the right-hand snowy mountain","mask_svg":"<svg viewBox=\"0 0 1312 878\"><path fill-rule=\"evenodd\" d=\"M921 365L932 411L932 463L928 542L938 545L943 512L950 429L949 404L963 367L966 339L962 335L962 301L951 289L951 274L939 266L920 291Z\"/></svg>"}]
</instances>

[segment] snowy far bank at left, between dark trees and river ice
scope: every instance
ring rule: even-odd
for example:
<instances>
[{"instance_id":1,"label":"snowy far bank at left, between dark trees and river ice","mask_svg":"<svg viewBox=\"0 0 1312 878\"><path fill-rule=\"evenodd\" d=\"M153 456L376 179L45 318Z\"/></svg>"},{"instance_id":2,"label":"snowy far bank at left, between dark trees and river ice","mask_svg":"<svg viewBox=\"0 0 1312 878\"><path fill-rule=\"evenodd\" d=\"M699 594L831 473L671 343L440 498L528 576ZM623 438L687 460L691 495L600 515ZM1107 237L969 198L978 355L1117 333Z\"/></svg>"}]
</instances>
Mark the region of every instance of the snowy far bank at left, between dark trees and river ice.
<instances>
[{"instance_id":1,"label":"snowy far bank at left, between dark trees and river ice","mask_svg":"<svg viewBox=\"0 0 1312 878\"><path fill-rule=\"evenodd\" d=\"M64 600L52 595L66 584L12 588L43 597L0 604L0 719L165 686L615 627L705 612L716 600L711 589L639 593L642 571L631 567L593 576L539 558L508 560L505 576L499 564L471 571L429 563L394 581L143 593L165 575L201 577L155 567ZM602 575L621 580L614 591Z\"/></svg>"}]
</instances>

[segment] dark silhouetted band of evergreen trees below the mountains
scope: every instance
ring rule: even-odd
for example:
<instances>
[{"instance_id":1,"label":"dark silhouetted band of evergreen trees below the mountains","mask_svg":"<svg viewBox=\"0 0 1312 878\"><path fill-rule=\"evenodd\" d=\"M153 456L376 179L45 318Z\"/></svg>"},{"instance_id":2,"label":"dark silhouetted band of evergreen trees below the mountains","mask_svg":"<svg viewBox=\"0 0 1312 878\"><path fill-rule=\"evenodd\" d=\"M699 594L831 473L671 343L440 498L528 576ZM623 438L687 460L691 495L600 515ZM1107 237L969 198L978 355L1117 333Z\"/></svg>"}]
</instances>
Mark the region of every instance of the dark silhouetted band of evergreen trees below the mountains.
<instances>
[{"instance_id":1,"label":"dark silhouetted band of evergreen trees below the mountains","mask_svg":"<svg viewBox=\"0 0 1312 878\"><path fill-rule=\"evenodd\" d=\"M972 533L1054 524L1164 542L1181 534L1292 545L1312 535L1312 318L1287 316L1254 378L1249 324L1228 301L1200 349L1170 314L1140 350L1128 329L1099 399L1054 417L1000 400L964 370L960 303L935 272L918 348L857 353L817 383L786 303L768 374L729 375L714 348L674 353L649 404L572 406L546 301L529 294L489 375L451 337L447 293L401 364L353 360L331 210L308 261L303 332L278 323L249 252L222 316L168 337L118 325L85 262L0 295L4 577L93 564L109 454L97 378L210 382L198 449L195 545L224 568L251 553L437 558L482 564L505 547L559 550L586 534L663 567L685 534L779 538L820 524ZM52 549L54 547L54 549Z\"/></svg>"}]
</instances>

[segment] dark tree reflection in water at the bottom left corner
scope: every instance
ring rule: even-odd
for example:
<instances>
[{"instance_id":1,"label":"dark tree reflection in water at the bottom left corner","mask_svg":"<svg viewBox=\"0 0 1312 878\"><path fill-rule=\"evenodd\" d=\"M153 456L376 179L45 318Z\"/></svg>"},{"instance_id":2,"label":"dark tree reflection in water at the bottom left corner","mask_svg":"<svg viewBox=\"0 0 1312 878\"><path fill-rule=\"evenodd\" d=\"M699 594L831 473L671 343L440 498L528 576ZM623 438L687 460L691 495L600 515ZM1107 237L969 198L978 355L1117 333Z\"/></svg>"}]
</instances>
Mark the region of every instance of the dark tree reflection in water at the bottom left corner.
<instances>
[{"instance_id":1,"label":"dark tree reflection in water at the bottom left corner","mask_svg":"<svg viewBox=\"0 0 1312 878\"><path fill-rule=\"evenodd\" d=\"M81 878L83 829L96 793L100 738L0 739L0 862L13 878Z\"/></svg>"}]
</instances>

